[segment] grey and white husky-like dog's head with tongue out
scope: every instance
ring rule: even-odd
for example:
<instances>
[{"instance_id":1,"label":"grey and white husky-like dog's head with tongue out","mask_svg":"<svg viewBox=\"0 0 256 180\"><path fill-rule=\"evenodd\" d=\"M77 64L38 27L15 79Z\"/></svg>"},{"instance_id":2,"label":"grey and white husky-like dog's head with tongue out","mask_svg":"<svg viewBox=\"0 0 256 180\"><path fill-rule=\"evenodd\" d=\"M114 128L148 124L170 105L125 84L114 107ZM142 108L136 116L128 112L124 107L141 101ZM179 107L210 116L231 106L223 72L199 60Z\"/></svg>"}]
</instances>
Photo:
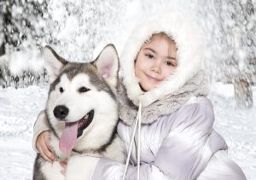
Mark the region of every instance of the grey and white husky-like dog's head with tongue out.
<instances>
[{"instance_id":1,"label":"grey and white husky-like dog's head with tongue out","mask_svg":"<svg viewBox=\"0 0 256 180\"><path fill-rule=\"evenodd\" d=\"M46 46L44 62L50 83L46 113L61 151L106 145L118 121L119 59L114 46L109 44L88 63L66 61Z\"/></svg>"}]
</instances>

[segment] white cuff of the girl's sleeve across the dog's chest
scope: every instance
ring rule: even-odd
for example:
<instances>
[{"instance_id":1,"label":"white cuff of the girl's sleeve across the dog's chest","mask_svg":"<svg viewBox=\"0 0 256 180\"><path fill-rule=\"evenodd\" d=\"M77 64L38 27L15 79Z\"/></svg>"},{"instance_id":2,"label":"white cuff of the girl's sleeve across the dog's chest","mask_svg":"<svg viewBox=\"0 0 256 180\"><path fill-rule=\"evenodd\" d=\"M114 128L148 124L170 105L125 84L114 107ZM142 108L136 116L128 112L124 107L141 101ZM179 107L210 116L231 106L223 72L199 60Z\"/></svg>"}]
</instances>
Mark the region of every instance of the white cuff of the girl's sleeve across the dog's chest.
<instances>
[{"instance_id":1,"label":"white cuff of the girl's sleeve across the dog's chest","mask_svg":"<svg viewBox=\"0 0 256 180\"><path fill-rule=\"evenodd\" d=\"M75 155L68 159L66 180L90 180L96 164L96 157Z\"/></svg>"}]
</instances>

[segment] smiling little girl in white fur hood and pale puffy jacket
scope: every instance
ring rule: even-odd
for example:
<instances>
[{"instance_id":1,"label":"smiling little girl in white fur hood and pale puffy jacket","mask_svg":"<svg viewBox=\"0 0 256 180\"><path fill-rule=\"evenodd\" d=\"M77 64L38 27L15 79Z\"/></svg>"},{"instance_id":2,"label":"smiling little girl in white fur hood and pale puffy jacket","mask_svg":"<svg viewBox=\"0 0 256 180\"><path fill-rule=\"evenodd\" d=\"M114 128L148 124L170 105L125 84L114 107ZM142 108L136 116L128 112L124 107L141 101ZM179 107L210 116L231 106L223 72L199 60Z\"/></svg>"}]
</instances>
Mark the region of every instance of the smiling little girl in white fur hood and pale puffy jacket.
<instances>
[{"instance_id":1,"label":"smiling little girl in white fur hood and pale puffy jacket","mask_svg":"<svg viewBox=\"0 0 256 180\"><path fill-rule=\"evenodd\" d=\"M201 38L189 17L172 11L137 27L126 42L120 56L118 133L125 154L131 143L133 148L125 179L137 179L137 167L140 179L246 179L212 128ZM133 142L137 113L141 122ZM55 160L47 129L43 113L34 127L34 148ZM121 179L124 169L100 158L91 179Z\"/></svg>"}]
</instances>

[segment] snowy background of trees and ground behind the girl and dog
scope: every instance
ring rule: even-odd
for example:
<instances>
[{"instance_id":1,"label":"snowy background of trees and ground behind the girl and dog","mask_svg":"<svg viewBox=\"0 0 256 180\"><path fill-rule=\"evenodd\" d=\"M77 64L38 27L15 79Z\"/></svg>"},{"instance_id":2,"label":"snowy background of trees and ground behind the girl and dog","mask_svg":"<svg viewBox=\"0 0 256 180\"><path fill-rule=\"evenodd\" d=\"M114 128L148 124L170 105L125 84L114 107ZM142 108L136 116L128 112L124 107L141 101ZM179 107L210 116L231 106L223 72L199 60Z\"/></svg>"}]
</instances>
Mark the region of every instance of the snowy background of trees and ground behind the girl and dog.
<instances>
[{"instance_id":1,"label":"snowy background of trees and ground behind the girl and dog","mask_svg":"<svg viewBox=\"0 0 256 180\"><path fill-rule=\"evenodd\" d=\"M190 12L204 30L215 129L247 179L256 179L255 7L256 0L1 1L0 179L32 179L32 128L48 93L45 44L69 61L91 61L108 43L120 53L134 26L172 8ZM4 24L6 15L13 21ZM233 86L241 79L248 88L241 95L250 96L242 109Z\"/></svg>"}]
</instances>

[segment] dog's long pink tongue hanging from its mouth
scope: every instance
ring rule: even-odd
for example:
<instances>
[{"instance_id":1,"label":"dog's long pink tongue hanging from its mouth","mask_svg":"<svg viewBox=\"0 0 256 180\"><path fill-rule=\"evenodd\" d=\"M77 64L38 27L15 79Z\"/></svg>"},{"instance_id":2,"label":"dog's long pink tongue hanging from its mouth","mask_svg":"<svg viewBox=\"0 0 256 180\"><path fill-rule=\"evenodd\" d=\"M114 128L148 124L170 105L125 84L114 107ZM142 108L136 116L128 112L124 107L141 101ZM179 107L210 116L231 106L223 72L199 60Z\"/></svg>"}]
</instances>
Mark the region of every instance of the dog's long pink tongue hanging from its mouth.
<instances>
[{"instance_id":1,"label":"dog's long pink tongue hanging from its mouth","mask_svg":"<svg viewBox=\"0 0 256 180\"><path fill-rule=\"evenodd\" d=\"M65 123L64 131L61 134L59 147L63 153L71 151L77 141L79 122Z\"/></svg>"}]
</instances>

